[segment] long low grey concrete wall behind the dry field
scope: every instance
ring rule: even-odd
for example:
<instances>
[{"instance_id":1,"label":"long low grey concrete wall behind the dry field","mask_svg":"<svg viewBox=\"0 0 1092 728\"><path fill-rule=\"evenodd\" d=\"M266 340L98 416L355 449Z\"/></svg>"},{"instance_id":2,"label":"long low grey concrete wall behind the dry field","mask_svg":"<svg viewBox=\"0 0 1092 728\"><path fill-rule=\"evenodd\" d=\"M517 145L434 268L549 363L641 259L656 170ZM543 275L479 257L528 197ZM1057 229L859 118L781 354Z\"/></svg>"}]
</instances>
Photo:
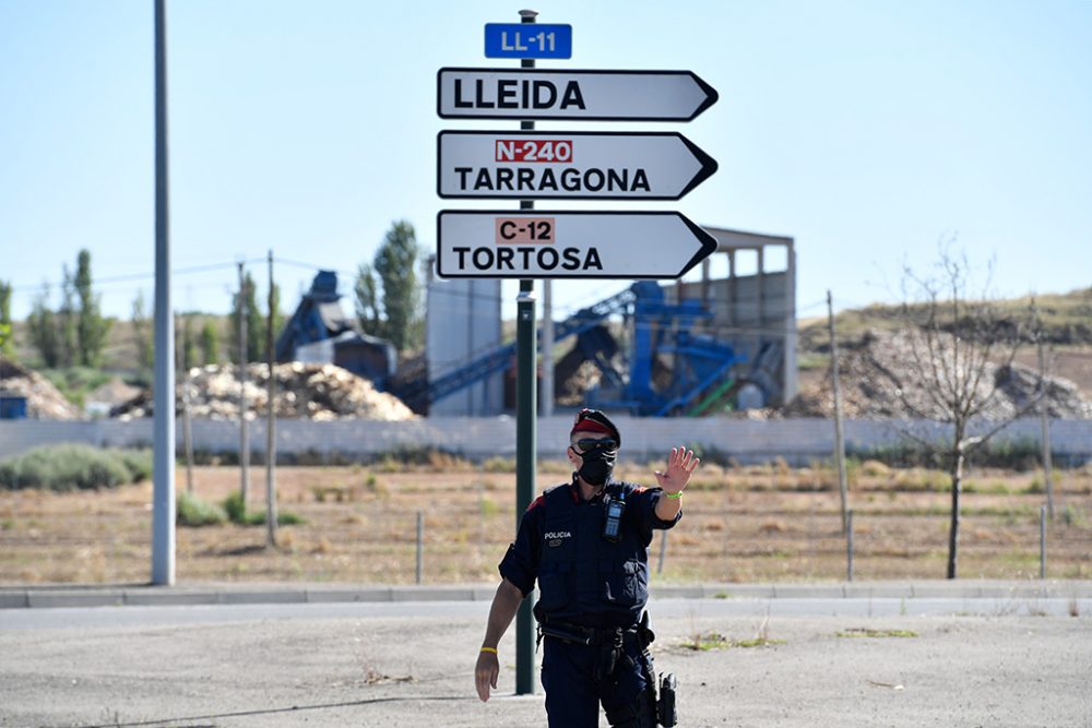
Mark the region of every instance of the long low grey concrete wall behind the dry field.
<instances>
[{"instance_id":1,"label":"long low grey concrete wall behind the dry field","mask_svg":"<svg viewBox=\"0 0 1092 728\"><path fill-rule=\"evenodd\" d=\"M660 457L673 444L700 444L732 455L744 463L783 457L805 465L829 457L834 447L834 426L829 420L790 419L750 421L726 418L655 419L616 418L622 432L622 456L636 460ZM543 457L561 457L568 445L571 416L538 420L538 452ZM193 446L199 451L237 452L235 422L193 421ZM847 420L846 446L865 450L890 445L904 439L906 430L918 437L939 438L945 428L928 421ZM181 427L177 428L179 447ZM515 454L515 420L499 418L434 417L404 422L340 420L311 422L282 420L277 423L277 450L282 454L324 453L367 455L391 450L438 447L483 458ZM995 438L996 442L1026 439L1038 442L1037 419L1019 420ZM98 447L147 446L152 442L152 420L130 422L92 420L0 420L0 457L44 444L81 442ZM256 452L265 447L263 421L250 426ZM1064 460L1092 458L1092 420L1054 420L1051 423L1053 451Z\"/></svg>"}]
</instances>

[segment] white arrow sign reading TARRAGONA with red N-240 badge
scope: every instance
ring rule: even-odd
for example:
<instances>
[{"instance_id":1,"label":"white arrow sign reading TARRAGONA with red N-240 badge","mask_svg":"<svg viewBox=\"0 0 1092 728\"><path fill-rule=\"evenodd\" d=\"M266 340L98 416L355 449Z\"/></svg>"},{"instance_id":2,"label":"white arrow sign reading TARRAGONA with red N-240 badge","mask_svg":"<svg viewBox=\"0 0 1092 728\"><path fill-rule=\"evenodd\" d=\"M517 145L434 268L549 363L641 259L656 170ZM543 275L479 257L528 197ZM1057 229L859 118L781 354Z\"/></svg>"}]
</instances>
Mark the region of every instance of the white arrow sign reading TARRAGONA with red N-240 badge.
<instances>
[{"instance_id":1,"label":"white arrow sign reading TARRAGONA with red N-240 badge","mask_svg":"<svg viewBox=\"0 0 1092 728\"><path fill-rule=\"evenodd\" d=\"M678 200L716 162L676 132L441 131L441 198Z\"/></svg>"}]
</instances>

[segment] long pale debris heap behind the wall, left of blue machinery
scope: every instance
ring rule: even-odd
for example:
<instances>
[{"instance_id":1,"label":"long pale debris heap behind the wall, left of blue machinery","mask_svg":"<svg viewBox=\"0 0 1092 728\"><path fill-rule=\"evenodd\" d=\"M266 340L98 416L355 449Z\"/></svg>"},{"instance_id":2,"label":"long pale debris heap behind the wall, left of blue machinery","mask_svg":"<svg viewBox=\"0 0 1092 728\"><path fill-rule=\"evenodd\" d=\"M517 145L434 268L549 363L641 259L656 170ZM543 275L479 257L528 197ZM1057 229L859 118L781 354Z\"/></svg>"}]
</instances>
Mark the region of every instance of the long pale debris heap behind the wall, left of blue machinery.
<instances>
[{"instance_id":1,"label":"long pale debris heap behind the wall, left of blue machinery","mask_svg":"<svg viewBox=\"0 0 1092 728\"><path fill-rule=\"evenodd\" d=\"M378 392L366 379L333 365L299 362L276 365L274 413L277 418L333 419L413 419L416 415L397 397ZM188 381L179 378L177 408L182 411L189 399L191 417L234 420L239 417L239 372L233 365L190 370ZM185 389L183 389L185 387ZM183 396L188 395L188 397ZM247 418L264 417L269 406L269 368L247 366ZM115 407L111 417L135 419L150 417L150 393Z\"/></svg>"}]
</instances>

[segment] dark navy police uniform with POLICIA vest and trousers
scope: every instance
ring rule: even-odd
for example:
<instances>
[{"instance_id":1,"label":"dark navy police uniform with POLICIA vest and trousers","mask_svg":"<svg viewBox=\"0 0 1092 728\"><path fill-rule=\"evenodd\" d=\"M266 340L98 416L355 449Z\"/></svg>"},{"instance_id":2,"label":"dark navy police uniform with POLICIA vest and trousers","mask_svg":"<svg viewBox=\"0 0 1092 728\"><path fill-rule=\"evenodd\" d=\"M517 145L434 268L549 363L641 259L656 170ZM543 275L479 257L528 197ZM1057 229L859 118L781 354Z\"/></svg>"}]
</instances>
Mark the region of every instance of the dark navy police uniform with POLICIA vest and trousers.
<instances>
[{"instance_id":1,"label":"dark navy police uniform with POLICIA vest and trousers","mask_svg":"<svg viewBox=\"0 0 1092 728\"><path fill-rule=\"evenodd\" d=\"M640 625L649 598L649 544L663 521L663 490L608 481L591 500L577 477L547 490L523 514L500 574L526 596L538 581L542 683L551 728L593 728L598 705L612 726L655 725L654 680ZM617 540L604 537L605 499L625 501ZM545 639L543 639L545 634ZM651 721L650 721L651 720Z\"/></svg>"}]
</instances>

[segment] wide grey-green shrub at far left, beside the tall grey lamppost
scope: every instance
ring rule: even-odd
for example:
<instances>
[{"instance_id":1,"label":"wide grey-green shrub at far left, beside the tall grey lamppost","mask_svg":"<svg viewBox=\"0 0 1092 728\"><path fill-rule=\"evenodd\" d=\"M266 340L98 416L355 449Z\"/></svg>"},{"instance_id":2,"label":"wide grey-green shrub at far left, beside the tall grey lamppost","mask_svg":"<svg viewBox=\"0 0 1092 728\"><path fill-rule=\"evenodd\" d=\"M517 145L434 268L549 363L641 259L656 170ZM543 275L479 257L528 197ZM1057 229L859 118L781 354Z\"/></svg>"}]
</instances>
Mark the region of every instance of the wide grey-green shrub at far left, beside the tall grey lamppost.
<instances>
[{"instance_id":1,"label":"wide grey-green shrub at far left, beside the tall grey lamppost","mask_svg":"<svg viewBox=\"0 0 1092 728\"><path fill-rule=\"evenodd\" d=\"M116 488L143 480L151 470L152 457L146 452L44 445L0 462L0 488Z\"/></svg>"}]
</instances>

